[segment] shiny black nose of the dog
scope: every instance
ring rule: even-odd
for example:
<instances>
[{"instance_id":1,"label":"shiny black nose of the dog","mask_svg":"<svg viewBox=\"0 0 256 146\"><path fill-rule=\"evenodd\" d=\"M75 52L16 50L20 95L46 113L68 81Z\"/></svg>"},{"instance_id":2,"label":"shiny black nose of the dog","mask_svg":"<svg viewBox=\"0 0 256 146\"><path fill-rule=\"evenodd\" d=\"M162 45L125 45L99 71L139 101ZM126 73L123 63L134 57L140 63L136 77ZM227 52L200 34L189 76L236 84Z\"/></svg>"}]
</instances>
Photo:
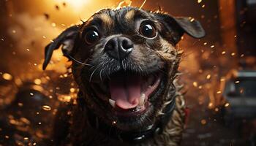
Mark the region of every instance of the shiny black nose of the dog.
<instances>
[{"instance_id":1,"label":"shiny black nose of the dog","mask_svg":"<svg viewBox=\"0 0 256 146\"><path fill-rule=\"evenodd\" d=\"M122 60L132 52L133 42L127 37L114 37L105 45L105 51L112 58Z\"/></svg>"}]
</instances>

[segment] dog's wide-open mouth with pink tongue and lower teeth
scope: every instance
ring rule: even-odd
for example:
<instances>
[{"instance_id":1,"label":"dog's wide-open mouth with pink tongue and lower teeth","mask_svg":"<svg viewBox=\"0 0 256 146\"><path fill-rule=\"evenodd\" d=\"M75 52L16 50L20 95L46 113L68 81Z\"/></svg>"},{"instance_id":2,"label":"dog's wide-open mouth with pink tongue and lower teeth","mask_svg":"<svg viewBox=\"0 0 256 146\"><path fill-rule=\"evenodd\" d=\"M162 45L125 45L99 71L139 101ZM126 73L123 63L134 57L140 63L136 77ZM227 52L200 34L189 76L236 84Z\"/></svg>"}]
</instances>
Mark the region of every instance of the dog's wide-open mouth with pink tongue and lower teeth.
<instances>
[{"instance_id":1,"label":"dog's wide-open mouth with pink tongue and lower teeth","mask_svg":"<svg viewBox=\"0 0 256 146\"><path fill-rule=\"evenodd\" d=\"M148 99L157 91L162 75L118 71L105 82L93 83L96 96L111 105L117 116L138 116L146 111Z\"/></svg>"}]
</instances>

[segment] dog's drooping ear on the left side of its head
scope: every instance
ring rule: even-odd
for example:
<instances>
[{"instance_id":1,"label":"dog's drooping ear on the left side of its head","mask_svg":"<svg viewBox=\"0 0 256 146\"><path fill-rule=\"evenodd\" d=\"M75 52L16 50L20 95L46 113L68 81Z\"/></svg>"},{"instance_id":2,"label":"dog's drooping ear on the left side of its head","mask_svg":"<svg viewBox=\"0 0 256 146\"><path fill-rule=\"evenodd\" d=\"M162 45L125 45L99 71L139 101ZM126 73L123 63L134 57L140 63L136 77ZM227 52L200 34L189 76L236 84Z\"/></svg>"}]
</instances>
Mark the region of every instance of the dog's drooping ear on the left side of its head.
<instances>
[{"instance_id":1,"label":"dog's drooping ear on the left side of its head","mask_svg":"<svg viewBox=\"0 0 256 146\"><path fill-rule=\"evenodd\" d=\"M45 61L42 64L42 69L45 70L46 66L50 62L50 58L53 55L53 50L58 49L61 45L61 50L64 56L69 57L74 48L75 39L79 34L79 26L71 26L63 31L53 42L45 47Z\"/></svg>"}]
</instances>

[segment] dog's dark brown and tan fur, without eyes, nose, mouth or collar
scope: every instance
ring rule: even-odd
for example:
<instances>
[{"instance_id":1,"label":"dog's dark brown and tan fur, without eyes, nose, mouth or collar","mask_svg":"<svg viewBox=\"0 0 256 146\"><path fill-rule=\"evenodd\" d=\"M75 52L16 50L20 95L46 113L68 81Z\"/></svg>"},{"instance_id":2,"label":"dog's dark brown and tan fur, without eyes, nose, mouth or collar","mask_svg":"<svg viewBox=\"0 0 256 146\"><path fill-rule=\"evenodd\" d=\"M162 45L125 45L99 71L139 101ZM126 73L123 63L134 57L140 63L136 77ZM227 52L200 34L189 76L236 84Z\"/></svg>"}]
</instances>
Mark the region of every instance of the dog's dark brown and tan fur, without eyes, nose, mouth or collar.
<instances>
[{"instance_id":1,"label":"dog's dark brown and tan fur, without eyes, nose, mouth or collar","mask_svg":"<svg viewBox=\"0 0 256 146\"><path fill-rule=\"evenodd\" d=\"M138 26L149 23L157 29L153 38L138 34ZM84 41L90 30L97 29L99 40L94 45ZM61 107L56 116L53 140L56 145L179 145L184 129L184 97L178 85L178 64L181 51L176 44L187 33L192 37L204 36L203 28L196 20L172 18L163 12L148 12L143 9L126 7L117 10L103 9L80 26L72 26L60 34L45 50L44 69L50 61L54 49L63 45L62 50L73 61L72 73L79 85L77 104ZM120 62L105 54L105 44L113 37L125 36L135 44L129 58ZM121 65L120 65L121 64ZM143 115L119 122L111 112L108 99L99 99L94 94L93 83L103 83L108 77L120 71L120 66L140 74L162 72L163 78L156 93L148 99L150 106ZM115 126L121 131L138 131L157 123L167 113L167 105L175 101L170 120L162 128L162 133L144 139L142 142L126 142L91 126L92 112L103 123ZM168 113L169 114L169 113ZM113 123L115 121L115 123ZM116 122L117 121L117 122ZM59 130L61 129L61 131Z\"/></svg>"}]
</instances>

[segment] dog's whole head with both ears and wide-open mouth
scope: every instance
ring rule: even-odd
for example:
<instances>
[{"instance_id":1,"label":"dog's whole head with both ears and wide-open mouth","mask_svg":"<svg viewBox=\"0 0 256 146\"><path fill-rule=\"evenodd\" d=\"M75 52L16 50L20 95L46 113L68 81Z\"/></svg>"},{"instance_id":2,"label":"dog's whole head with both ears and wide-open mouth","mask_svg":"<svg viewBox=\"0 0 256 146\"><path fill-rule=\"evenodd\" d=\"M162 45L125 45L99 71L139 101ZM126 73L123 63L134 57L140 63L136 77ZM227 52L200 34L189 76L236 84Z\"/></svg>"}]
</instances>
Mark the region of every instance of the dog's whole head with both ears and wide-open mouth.
<instances>
[{"instance_id":1,"label":"dog's whole head with both ears and wide-open mouth","mask_svg":"<svg viewBox=\"0 0 256 146\"><path fill-rule=\"evenodd\" d=\"M44 68L63 45L86 106L106 124L122 130L154 124L175 91L173 76L184 33L204 36L196 20L125 7L104 9L72 26L45 50ZM114 122L113 122L114 121Z\"/></svg>"}]
</instances>

